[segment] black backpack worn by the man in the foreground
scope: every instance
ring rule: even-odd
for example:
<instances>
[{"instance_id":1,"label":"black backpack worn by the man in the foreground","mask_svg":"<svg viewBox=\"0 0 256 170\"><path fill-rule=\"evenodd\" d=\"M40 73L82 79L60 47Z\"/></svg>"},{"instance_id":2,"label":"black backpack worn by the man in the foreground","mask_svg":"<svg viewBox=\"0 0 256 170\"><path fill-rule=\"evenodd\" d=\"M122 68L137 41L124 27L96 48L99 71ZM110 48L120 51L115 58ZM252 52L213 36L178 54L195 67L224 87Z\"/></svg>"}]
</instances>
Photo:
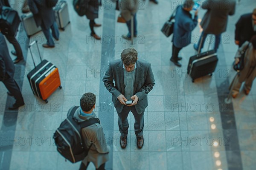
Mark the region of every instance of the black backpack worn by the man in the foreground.
<instances>
[{"instance_id":1,"label":"black backpack worn by the man in the foreground","mask_svg":"<svg viewBox=\"0 0 256 170\"><path fill-rule=\"evenodd\" d=\"M83 160L90 150L90 147L86 147L84 144L81 129L95 123L100 123L98 118L78 122L73 117L78 108L78 106L75 106L72 109L67 119L61 123L60 127L53 134L58 152L72 163Z\"/></svg>"}]
</instances>

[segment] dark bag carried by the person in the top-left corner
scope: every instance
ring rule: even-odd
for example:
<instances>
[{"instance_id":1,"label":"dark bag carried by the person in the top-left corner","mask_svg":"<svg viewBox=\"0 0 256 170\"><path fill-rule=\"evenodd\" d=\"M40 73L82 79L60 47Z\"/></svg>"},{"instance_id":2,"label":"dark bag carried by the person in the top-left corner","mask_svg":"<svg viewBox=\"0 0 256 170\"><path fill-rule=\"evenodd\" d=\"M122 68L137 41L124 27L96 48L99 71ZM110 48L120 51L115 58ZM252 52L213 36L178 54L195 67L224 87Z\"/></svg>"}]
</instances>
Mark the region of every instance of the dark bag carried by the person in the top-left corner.
<instances>
[{"instance_id":1,"label":"dark bag carried by the person in the top-left corner","mask_svg":"<svg viewBox=\"0 0 256 170\"><path fill-rule=\"evenodd\" d=\"M8 6L3 6L0 14L0 29L4 35L15 37L20 25L17 11Z\"/></svg>"}]
</instances>

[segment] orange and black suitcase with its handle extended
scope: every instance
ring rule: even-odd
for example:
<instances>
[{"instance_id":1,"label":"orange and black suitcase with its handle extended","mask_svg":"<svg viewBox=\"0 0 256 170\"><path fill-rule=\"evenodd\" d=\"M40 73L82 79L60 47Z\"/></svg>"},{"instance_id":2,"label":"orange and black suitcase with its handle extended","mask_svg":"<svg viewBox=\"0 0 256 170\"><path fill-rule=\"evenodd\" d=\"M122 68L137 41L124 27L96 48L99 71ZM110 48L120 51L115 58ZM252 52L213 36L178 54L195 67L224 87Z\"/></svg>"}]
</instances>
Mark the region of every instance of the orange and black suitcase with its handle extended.
<instances>
[{"instance_id":1,"label":"orange and black suitcase with its handle extended","mask_svg":"<svg viewBox=\"0 0 256 170\"><path fill-rule=\"evenodd\" d=\"M32 55L31 46L33 44L37 45L37 41L29 44L29 51L31 53L33 63L35 65L35 61ZM38 48L39 57L41 62L35 68L29 72L27 75L29 79L29 84L33 91L33 94L37 95L41 99L43 99L46 103L48 103L47 98L57 89L61 87L61 79L58 72L58 68L53 65L51 62L46 59L42 60L40 51Z\"/></svg>"}]
</instances>

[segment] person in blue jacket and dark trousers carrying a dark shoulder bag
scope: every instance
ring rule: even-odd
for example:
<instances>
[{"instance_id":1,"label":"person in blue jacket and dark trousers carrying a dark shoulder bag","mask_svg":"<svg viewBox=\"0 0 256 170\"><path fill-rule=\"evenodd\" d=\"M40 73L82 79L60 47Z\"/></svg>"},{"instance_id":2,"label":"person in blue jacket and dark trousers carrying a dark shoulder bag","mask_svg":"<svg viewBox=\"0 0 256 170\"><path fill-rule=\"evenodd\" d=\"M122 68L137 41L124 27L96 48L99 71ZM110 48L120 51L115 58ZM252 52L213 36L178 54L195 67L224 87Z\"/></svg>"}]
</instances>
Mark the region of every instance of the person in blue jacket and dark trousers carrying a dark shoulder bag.
<instances>
[{"instance_id":1,"label":"person in blue jacket and dark trousers carrying a dark shoulder bag","mask_svg":"<svg viewBox=\"0 0 256 170\"><path fill-rule=\"evenodd\" d=\"M175 14L175 24L172 37L172 57L171 61L181 67L178 57L180 50L191 43L191 33L198 24L198 10L195 11L195 17L192 18L190 11L194 6L193 0L186 0L183 6L177 6Z\"/></svg>"}]
</instances>

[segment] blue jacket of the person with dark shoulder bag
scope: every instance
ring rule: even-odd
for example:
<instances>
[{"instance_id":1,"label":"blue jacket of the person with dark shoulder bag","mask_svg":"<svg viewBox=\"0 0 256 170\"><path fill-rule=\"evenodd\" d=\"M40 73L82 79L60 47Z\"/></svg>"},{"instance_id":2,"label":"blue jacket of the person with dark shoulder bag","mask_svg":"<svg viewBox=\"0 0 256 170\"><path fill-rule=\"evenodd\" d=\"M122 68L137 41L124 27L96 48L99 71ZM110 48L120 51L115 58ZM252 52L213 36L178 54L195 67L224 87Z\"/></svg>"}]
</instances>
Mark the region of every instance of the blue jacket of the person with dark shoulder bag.
<instances>
[{"instance_id":1,"label":"blue jacket of the person with dark shoulder bag","mask_svg":"<svg viewBox=\"0 0 256 170\"><path fill-rule=\"evenodd\" d=\"M192 15L182 6L177 7L172 41L175 47L183 48L190 44L191 32L197 26L198 16L192 19Z\"/></svg>"}]
</instances>

